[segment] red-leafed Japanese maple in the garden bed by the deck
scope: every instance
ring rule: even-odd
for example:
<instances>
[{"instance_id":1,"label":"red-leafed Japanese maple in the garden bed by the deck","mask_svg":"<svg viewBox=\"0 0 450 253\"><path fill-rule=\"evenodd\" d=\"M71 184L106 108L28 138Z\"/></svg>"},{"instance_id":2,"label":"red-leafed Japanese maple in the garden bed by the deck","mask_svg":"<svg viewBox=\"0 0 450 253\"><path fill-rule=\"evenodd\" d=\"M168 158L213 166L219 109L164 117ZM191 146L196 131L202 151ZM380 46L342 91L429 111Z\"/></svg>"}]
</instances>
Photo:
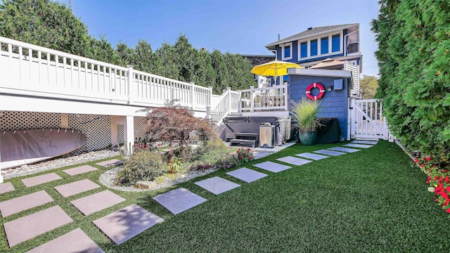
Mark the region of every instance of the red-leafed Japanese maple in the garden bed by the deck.
<instances>
[{"instance_id":1,"label":"red-leafed Japanese maple in the garden bed by the deck","mask_svg":"<svg viewBox=\"0 0 450 253\"><path fill-rule=\"evenodd\" d=\"M189 143L206 143L214 136L210 124L194 117L186 108L156 108L147 115L147 124L146 134L150 142L177 144L182 156Z\"/></svg>"}]
</instances>

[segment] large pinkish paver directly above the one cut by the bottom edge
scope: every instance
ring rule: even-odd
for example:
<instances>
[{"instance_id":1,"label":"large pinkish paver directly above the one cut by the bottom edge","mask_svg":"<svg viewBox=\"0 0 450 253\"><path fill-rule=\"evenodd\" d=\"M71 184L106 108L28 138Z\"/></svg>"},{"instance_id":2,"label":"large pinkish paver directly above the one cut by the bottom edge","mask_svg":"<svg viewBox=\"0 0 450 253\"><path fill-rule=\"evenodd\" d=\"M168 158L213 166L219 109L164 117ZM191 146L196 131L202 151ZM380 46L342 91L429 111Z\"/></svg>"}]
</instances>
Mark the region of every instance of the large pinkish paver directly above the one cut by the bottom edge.
<instances>
[{"instance_id":1,"label":"large pinkish paver directly above the one cut by the bottom edge","mask_svg":"<svg viewBox=\"0 0 450 253\"><path fill-rule=\"evenodd\" d=\"M9 247L64 226L73 220L59 206L4 223Z\"/></svg>"}]
</instances>

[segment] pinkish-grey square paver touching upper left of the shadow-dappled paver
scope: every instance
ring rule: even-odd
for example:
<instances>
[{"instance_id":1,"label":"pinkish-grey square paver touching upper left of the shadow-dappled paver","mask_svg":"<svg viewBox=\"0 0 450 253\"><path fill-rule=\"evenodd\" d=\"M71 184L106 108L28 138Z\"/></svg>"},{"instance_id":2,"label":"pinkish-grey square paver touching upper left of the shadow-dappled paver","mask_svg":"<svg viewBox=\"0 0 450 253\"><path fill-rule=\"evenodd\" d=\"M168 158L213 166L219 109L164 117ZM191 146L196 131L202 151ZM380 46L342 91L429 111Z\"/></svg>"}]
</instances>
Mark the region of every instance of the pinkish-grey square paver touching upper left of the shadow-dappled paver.
<instances>
[{"instance_id":1,"label":"pinkish-grey square paver touching upper left of the shadow-dappled paver","mask_svg":"<svg viewBox=\"0 0 450 253\"><path fill-rule=\"evenodd\" d=\"M100 193L95 193L86 197L79 198L78 200L73 200L70 203L77 207L80 212L84 215L93 214L108 207L113 207L113 205L119 204L125 201L123 197L110 192L109 190L104 190Z\"/></svg>"}]
</instances>

